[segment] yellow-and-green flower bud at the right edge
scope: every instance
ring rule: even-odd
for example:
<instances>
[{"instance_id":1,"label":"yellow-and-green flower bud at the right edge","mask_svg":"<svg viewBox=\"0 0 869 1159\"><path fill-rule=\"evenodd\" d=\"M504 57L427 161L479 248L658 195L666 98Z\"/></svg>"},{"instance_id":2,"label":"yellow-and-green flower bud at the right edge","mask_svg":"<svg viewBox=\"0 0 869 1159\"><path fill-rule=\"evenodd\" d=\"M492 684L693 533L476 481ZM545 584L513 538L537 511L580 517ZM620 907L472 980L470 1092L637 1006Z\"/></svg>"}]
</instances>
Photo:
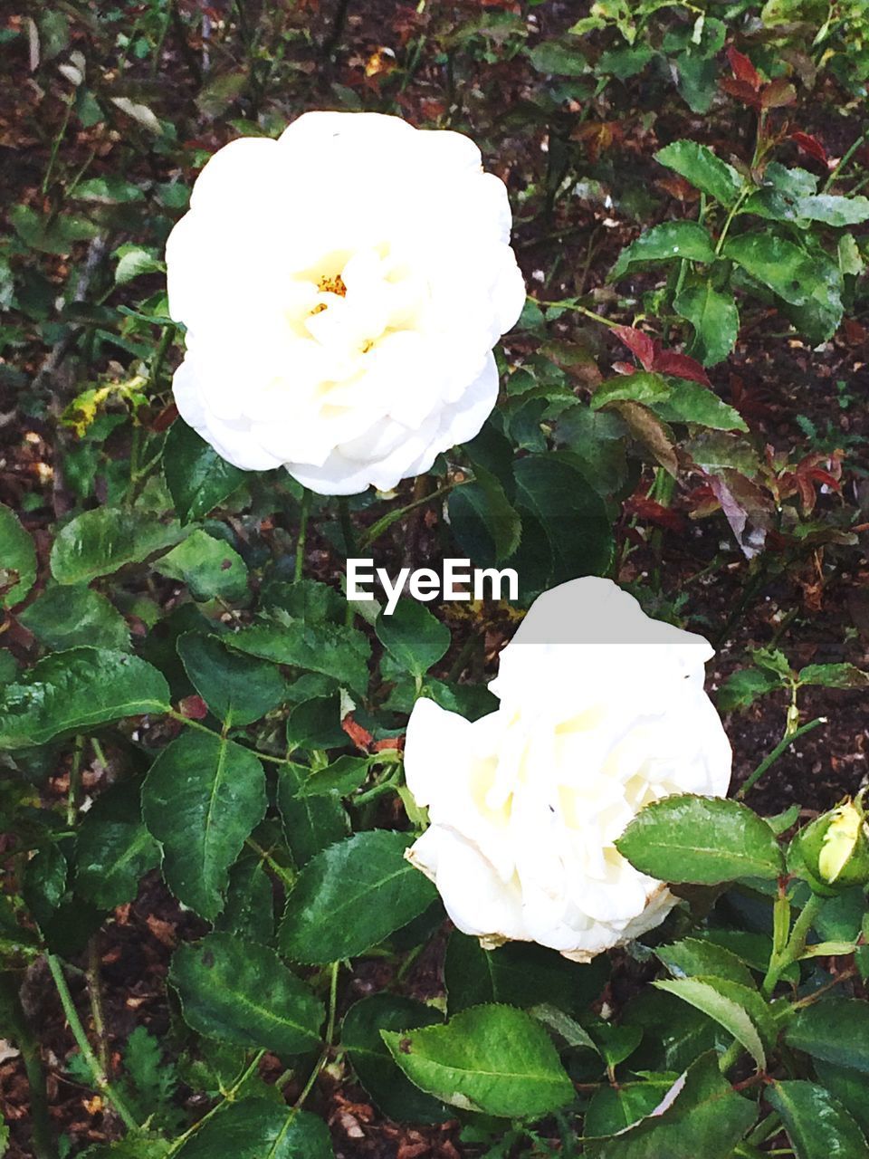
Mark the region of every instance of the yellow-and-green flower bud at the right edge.
<instances>
[{"instance_id":1,"label":"yellow-and-green flower bud at the right edge","mask_svg":"<svg viewBox=\"0 0 869 1159\"><path fill-rule=\"evenodd\" d=\"M795 838L795 852L816 892L830 894L869 882L869 825L860 799L845 801ZM817 889L820 884L823 888Z\"/></svg>"}]
</instances>

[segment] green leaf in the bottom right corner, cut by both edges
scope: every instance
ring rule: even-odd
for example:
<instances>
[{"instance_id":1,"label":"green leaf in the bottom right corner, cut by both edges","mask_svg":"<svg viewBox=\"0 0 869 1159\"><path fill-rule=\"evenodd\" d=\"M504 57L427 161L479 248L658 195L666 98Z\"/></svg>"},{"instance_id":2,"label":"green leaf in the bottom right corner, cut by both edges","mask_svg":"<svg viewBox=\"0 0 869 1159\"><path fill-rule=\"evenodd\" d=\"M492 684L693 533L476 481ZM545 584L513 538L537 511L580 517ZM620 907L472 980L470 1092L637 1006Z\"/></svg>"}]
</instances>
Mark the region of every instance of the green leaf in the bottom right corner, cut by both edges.
<instances>
[{"instance_id":1,"label":"green leaf in the bottom right corner, cut by both edges","mask_svg":"<svg viewBox=\"0 0 869 1159\"><path fill-rule=\"evenodd\" d=\"M801 1079L776 1081L766 1099L779 1111L796 1159L857 1159L869 1154L866 1137L824 1087Z\"/></svg>"}]
</instances>

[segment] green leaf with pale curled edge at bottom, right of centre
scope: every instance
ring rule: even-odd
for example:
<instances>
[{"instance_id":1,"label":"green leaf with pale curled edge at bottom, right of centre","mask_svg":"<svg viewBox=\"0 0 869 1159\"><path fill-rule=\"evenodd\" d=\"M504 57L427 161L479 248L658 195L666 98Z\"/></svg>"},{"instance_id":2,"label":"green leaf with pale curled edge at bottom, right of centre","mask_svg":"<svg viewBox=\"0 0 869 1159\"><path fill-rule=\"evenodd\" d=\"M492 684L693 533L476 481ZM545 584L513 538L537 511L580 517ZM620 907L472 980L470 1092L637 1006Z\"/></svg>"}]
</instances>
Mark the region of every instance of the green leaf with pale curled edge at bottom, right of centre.
<instances>
[{"instance_id":1,"label":"green leaf with pale curled edge at bottom, right of centre","mask_svg":"<svg viewBox=\"0 0 869 1159\"><path fill-rule=\"evenodd\" d=\"M662 1100L662 1103L665 1100ZM731 1159L757 1118L757 1106L718 1072L714 1051L701 1055L673 1084L666 1106L604 1140L586 1140L590 1159Z\"/></svg>"}]
</instances>

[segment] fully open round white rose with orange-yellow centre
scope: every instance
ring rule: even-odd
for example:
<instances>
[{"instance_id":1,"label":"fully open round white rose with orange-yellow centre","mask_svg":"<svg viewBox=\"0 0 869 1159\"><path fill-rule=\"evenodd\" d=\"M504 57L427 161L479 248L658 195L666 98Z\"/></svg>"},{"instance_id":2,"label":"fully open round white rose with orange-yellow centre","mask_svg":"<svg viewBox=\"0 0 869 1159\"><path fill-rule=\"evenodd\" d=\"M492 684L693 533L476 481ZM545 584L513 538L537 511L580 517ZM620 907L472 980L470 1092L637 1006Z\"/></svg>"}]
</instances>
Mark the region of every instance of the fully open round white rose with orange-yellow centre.
<instances>
[{"instance_id":1,"label":"fully open round white rose with orange-yellow centre","mask_svg":"<svg viewBox=\"0 0 869 1159\"><path fill-rule=\"evenodd\" d=\"M461 133L307 112L199 175L166 261L182 417L323 495L428 471L491 411L525 286L502 181Z\"/></svg>"}]
</instances>

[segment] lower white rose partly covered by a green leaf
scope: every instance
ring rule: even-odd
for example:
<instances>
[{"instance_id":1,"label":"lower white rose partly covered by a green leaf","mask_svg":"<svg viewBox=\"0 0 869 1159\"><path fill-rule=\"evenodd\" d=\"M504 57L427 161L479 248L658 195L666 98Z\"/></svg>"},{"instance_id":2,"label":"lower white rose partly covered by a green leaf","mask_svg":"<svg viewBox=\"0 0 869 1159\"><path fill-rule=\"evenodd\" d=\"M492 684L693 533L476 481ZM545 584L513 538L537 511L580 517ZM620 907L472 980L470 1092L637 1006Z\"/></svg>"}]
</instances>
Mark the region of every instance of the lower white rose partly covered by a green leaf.
<instances>
[{"instance_id":1,"label":"lower white rose partly covered by a green leaf","mask_svg":"<svg viewBox=\"0 0 869 1159\"><path fill-rule=\"evenodd\" d=\"M502 653L496 712L472 723L416 702L404 767L431 825L408 857L459 930L583 962L664 919L676 898L614 841L650 801L726 793L711 655L608 580L575 580Z\"/></svg>"}]
</instances>

